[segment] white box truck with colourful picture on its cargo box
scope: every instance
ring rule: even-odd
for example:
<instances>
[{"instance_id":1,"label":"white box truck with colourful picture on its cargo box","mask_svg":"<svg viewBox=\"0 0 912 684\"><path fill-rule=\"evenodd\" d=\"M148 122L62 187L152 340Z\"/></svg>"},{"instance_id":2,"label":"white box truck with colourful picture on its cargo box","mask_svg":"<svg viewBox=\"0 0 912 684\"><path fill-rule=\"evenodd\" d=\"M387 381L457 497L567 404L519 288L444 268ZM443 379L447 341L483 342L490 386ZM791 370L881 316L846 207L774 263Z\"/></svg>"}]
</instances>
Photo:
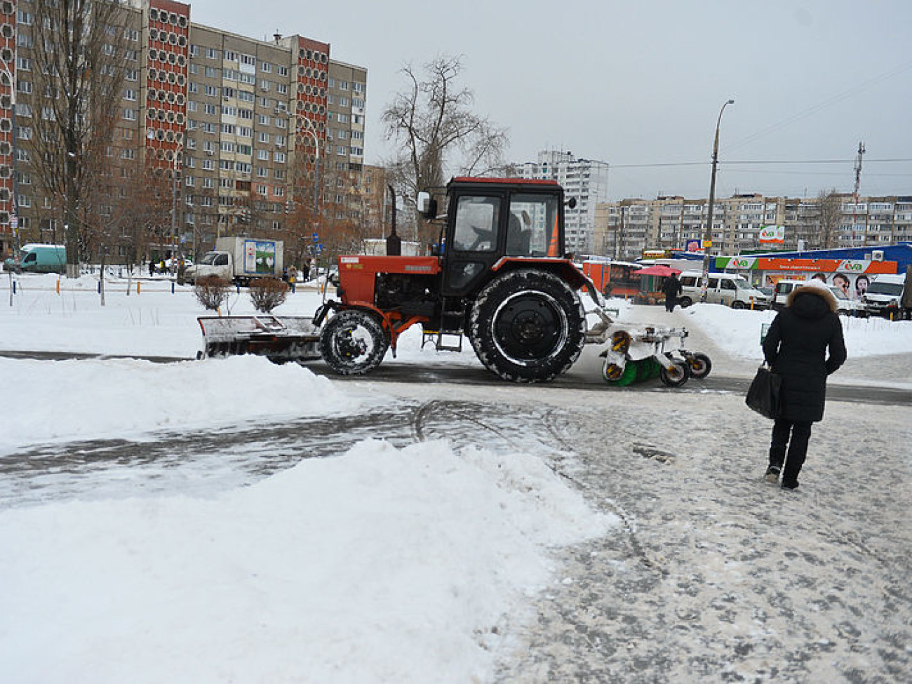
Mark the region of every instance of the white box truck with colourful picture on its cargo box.
<instances>
[{"instance_id":1,"label":"white box truck with colourful picture on its cargo box","mask_svg":"<svg viewBox=\"0 0 912 684\"><path fill-rule=\"evenodd\" d=\"M249 285L256 278L282 277L285 247L281 240L256 237L220 237L215 249L187 267L184 278L195 283L207 275L218 275L237 285Z\"/></svg>"}]
</instances>

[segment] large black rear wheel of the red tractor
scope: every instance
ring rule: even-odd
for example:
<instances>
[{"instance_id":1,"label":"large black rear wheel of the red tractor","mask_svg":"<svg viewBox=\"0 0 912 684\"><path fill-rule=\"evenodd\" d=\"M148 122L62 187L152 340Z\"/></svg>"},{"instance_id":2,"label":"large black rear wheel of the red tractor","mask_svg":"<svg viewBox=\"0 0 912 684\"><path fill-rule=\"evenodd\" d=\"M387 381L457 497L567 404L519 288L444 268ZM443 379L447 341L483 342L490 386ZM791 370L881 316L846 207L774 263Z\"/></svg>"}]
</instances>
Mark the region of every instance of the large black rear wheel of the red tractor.
<instances>
[{"instance_id":1,"label":"large black rear wheel of the red tractor","mask_svg":"<svg viewBox=\"0 0 912 684\"><path fill-rule=\"evenodd\" d=\"M570 368L586 342L575 291L548 271L523 269L485 285L472 306L469 337L495 375L542 382Z\"/></svg>"}]
</instances>

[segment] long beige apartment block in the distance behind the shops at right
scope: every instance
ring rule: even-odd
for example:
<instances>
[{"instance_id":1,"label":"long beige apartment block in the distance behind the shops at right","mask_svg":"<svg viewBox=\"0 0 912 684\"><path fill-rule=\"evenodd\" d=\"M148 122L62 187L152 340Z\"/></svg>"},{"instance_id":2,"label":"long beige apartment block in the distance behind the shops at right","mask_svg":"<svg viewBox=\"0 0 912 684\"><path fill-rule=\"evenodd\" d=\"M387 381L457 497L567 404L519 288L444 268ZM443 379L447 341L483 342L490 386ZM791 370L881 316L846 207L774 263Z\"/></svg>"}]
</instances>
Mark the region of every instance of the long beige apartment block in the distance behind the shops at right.
<instances>
[{"instance_id":1,"label":"long beige apartment block in the distance behind the shops at right","mask_svg":"<svg viewBox=\"0 0 912 684\"><path fill-rule=\"evenodd\" d=\"M648 249L699 246L709 202L680 196L601 202L596 207L592 254L634 259ZM785 242L761 244L766 226L782 226ZM712 208L712 254L740 254L779 246L790 250L912 241L912 196L851 194L799 199L759 193L717 199Z\"/></svg>"}]
</instances>

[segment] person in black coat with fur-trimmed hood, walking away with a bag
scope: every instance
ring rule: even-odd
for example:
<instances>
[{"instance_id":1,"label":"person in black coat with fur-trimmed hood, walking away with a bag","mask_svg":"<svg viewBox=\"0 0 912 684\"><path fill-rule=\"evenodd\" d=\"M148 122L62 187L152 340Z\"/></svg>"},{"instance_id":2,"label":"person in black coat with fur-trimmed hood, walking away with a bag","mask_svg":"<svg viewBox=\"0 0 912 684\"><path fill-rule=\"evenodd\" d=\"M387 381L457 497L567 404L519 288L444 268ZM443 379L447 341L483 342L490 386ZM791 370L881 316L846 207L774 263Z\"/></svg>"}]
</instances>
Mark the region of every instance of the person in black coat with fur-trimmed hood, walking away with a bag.
<instances>
[{"instance_id":1,"label":"person in black coat with fur-trimmed hood, walking away with a bag","mask_svg":"<svg viewBox=\"0 0 912 684\"><path fill-rule=\"evenodd\" d=\"M833 293L808 281L793 289L763 340L763 357L782 378L782 414L772 425L766 481L776 482L782 472L783 489L798 487L811 423L824 418L826 377L845 363L837 311Z\"/></svg>"}]
</instances>

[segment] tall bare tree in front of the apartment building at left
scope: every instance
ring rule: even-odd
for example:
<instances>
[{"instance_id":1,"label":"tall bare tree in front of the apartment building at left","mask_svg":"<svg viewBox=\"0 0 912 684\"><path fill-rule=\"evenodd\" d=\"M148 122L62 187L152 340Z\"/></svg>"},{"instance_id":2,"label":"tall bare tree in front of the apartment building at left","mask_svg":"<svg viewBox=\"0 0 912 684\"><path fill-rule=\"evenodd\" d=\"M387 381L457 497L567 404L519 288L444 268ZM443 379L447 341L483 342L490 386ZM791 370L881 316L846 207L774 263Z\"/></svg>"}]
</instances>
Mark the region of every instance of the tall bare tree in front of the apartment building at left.
<instances>
[{"instance_id":1,"label":"tall bare tree in front of the apartment building at left","mask_svg":"<svg viewBox=\"0 0 912 684\"><path fill-rule=\"evenodd\" d=\"M85 254L88 194L106 169L127 60L130 11L117 0L34 0L33 169L63 210L67 275ZM90 163L98 161L98 163Z\"/></svg>"}]
</instances>

